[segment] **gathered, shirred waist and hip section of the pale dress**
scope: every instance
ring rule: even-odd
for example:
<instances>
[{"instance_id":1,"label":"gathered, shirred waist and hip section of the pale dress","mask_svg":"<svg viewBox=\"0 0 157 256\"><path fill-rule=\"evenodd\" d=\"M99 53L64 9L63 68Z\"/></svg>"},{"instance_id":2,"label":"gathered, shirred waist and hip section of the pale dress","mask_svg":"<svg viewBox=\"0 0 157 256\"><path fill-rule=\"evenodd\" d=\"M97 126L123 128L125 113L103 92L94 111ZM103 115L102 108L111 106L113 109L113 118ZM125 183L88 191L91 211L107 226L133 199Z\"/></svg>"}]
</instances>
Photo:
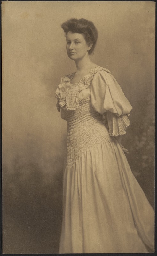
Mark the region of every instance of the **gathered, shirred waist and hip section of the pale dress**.
<instances>
[{"instance_id":1,"label":"gathered, shirred waist and hip section of the pale dress","mask_svg":"<svg viewBox=\"0 0 157 256\"><path fill-rule=\"evenodd\" d=\"M96 112L91 99L82 99L76 110L66 111L67 120L67 165L72 165L91 147L111 140L103 123L102 115Z\"/></svg>"}]
</instances>

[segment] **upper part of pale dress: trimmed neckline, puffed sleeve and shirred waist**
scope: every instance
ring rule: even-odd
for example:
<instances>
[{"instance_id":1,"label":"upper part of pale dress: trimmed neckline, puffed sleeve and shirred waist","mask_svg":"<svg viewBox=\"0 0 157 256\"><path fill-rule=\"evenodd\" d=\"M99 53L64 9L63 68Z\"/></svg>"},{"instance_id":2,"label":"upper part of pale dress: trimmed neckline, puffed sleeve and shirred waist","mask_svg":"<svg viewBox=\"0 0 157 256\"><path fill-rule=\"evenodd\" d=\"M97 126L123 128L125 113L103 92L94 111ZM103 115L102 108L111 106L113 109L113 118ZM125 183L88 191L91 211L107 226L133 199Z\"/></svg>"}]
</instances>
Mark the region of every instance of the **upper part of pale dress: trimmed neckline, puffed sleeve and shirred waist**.
<instances>
[{"instance_id":1,"label":"upper part of pale dress: trimmed neckline, puffed sleeve and shirred waist","mask_svg":"<svg viewBox=\"0 0 157 256\"><path fill-rule=\"evenodd\" d=\"M87 148L102 142L104 136L125 134L132 109L106 68L92 68L75 84L71 83L73 76L74 73L61 78L56 89L57 109L68 124L67 164L72 164ZM104 114L107 124L103 122Z\"/></svg>"}]
</instances>

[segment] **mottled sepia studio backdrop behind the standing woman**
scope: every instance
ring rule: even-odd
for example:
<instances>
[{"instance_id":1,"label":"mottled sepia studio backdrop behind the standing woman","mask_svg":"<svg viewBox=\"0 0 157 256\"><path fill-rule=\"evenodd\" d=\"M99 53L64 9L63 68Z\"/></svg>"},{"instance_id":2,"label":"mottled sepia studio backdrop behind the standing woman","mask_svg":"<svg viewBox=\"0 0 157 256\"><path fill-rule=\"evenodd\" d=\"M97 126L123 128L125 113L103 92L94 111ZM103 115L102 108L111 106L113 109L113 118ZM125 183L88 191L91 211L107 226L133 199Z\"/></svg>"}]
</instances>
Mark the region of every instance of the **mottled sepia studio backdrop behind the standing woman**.
<instances>
[{"instance_id":1,"label":"mottled sepia studio backdrop behind the standing woman","mask_svg":"<svg viewBox=\"0 0 157 256\"><path fill-rule=\"evenodd\" d=\"M133 106L128 162L154 207L155 2L2 2L3 253L58 253L66 122L60 77L75 71L60 24L98 28L92 61ZM112 189L112 188L111 188Z\"/></svg>"}]
</instances>

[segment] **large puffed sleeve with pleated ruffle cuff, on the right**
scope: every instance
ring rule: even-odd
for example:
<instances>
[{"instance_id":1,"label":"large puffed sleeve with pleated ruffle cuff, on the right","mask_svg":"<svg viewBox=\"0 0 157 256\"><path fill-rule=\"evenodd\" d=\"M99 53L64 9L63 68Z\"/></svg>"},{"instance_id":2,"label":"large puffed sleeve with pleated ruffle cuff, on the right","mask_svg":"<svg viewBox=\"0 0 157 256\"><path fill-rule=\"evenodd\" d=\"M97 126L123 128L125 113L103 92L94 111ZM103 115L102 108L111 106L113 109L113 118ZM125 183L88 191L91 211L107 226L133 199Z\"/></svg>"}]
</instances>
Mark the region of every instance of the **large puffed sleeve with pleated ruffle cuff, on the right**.
<instances>
[{"instance_id":1,"label":"large puffed sleeve with pleated ruffle cuff, on the right","mask_svg":"<svg viewBox=\"0 0 157 256\"><path fill-rule=\"evenodd\" d=\"M91 81L90 92L93 108L102 115L106 113L109 135L125 134L132 106L111 73L97 72Z\"/></svg>"}]
</instances>

